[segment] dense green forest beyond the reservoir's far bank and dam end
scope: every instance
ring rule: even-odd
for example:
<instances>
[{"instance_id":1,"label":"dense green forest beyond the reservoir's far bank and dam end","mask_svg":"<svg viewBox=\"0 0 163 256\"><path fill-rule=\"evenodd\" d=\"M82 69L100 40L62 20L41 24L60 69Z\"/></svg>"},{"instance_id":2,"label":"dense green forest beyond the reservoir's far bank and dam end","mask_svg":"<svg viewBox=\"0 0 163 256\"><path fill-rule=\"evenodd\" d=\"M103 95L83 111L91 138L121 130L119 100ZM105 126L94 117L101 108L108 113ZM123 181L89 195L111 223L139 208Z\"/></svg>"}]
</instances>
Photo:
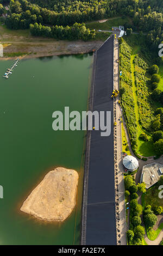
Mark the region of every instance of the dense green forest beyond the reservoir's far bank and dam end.
<instances>
[{"instance_id":1,"label":"dense green forest beyond the reservoir's far bank and dam end","mask_svg":"<svg viewBox=\"0 0 163 256\"><path fill-rule=\"evenodd\" d=\"M2 4L5 2L0 0ZM148 45L155 50L163 41L162 12L162 0L11 0L5 23L10 29L27 29L35 23L47 26L43 29L45 36L50 27L59 26L63 32L61 37L64 38L66 26L70 26L70 32L74 23L128 16L133 22L126 23L125 28L147 33ZM86 33L89 34L87 39L92 39L95 34L90 31Z\"/></svg>"}]
</instances>

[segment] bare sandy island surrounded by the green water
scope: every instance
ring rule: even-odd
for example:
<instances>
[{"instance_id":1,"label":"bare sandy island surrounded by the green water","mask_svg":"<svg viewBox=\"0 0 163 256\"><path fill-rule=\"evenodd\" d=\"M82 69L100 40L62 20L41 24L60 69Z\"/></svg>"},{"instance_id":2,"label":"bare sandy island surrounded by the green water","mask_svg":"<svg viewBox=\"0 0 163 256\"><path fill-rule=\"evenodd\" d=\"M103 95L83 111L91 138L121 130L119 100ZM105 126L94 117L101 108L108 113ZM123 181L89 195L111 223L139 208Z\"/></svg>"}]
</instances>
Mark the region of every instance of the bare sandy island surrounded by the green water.
<instances>
[{"instance_id":1,"label":"bare sandy island surrounded by the green water","mask_svg":"<svg viewBox=\"0 0 163 256\"><path fill-rule=\"evenodd\" d=\"M64 221L76 205L79 175L58 167L46 174L24 201L21 211L43 221Z\"/></svg>"}]
</instances>

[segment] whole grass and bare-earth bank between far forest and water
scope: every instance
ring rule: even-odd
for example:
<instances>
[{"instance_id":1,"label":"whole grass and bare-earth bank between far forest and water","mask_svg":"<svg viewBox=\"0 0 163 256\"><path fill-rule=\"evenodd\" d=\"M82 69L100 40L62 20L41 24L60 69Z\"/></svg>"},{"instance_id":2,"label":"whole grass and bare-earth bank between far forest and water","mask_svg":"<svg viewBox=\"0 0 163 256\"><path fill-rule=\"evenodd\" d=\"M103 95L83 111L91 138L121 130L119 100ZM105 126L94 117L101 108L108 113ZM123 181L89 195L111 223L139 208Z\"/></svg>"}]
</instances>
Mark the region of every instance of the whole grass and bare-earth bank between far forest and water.
<instances>
[{"instance_id":1,"label":"whole grass and bare-earth bank between far forest and water","mask_svg":"<svg viewBox=\"0 0 163 256\"><path fill-rule=\"evenodd\" d=\"M3 59L12 59L12 53L21 53L21 55L15 54L15 58L88 53L103 44L103 40L84 42L82 40L68 41L34 37L28 30L11 31L4 26L0 26L0 42L4 45Z\"/></svg>"}]
</instances>

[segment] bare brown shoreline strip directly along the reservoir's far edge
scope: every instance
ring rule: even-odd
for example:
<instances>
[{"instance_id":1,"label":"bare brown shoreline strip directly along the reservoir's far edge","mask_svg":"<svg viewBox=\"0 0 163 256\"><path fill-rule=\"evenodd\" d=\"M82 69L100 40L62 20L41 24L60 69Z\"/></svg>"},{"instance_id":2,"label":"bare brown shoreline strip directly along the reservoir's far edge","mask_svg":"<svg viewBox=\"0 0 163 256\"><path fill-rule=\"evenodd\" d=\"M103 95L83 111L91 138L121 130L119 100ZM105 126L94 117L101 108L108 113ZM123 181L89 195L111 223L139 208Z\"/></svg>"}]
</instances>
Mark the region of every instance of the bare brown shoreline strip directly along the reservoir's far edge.
<instances>
[{"instance_id":1,"label":"bare brown shoreline strip directly along the reservoir's far edge","mask_svg":"<svg viewBox=\"0 0 163 256\"><path fill-rule=\"evenodd\" d=\"M9 44L4 47L4 53L9 56L0 57L1 60L15 60L33 59L39 57L52 57L73 54L91 53L97 50L102 44L103 40L98 41L54 41L54 42L7 42L2 44ZM16 55L17 53L17 55ZM20 54L18 54L20 53ZM10 55L15 56L10 56Z\"/></svg>"}]
</instances>

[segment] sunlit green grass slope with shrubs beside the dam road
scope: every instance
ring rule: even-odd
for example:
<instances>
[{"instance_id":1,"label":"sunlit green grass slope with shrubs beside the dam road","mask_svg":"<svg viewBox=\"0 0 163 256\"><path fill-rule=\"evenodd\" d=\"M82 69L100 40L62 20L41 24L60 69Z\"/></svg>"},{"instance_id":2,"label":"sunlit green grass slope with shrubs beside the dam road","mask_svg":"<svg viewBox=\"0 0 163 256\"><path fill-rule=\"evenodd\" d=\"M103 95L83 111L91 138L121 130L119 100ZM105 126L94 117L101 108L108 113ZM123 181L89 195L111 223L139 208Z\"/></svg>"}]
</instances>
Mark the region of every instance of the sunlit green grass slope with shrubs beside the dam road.
<instances>
[{"instance_id":1,"label":"sunlit green grass slope with shrubs beside the dam road","mask_svg":"<svg viewBox=\"0 0 163 256\"><path fill-rule=\"evenodd\" d=\"M142 156L153 156L155 153L150 126L155 107L148 88L147 69L151 63L148 52L145 54L143 37L131 35L124 38L121 44L121 87L126 88L122 95L122 106L126 112L130 137L137 143L136 152ZM139 138L141 133L147 133L148 142Z\"/></svg>"}]
</instances>

